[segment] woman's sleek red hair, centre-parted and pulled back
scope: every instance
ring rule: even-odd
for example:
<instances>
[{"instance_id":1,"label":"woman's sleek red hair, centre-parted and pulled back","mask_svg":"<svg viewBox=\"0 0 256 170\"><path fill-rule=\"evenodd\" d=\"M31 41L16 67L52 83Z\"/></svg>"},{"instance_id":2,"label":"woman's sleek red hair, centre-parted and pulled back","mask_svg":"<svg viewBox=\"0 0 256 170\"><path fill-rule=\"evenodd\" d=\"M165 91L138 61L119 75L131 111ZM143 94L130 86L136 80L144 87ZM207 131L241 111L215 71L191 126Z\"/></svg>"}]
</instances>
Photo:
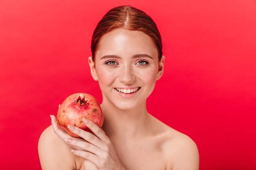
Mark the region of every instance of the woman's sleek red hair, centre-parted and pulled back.
<instances>
[{"instance_id":1,"label":"woman's sleek red hair, centre-parted and pulled back","mask_svg":"<svg viewBox=\"0 0 256 170\"><path fill-rule=\"evenodd\" d=\"M153 19L145 12L125 5L110 9L94 29L91 42L92 60L95 58L101 37L114 29L141 31L149 35L158 51L159 60L162 57L162 39Z\"/></svg>"}]
</instances>

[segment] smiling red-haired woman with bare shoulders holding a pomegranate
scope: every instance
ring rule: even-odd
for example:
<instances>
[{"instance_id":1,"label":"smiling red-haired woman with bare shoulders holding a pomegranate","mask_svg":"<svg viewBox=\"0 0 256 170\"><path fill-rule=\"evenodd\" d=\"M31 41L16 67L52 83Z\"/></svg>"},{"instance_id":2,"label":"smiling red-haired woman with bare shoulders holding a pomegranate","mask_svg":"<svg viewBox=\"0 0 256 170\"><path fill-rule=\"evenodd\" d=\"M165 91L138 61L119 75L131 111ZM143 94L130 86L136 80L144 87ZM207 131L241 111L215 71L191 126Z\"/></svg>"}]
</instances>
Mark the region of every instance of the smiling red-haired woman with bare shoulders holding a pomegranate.
<instances>
[{"instance_id":1,"label":"smiling red-haired woman with bare shoulders holding a pomegranate","mask_svg":"<svg viewBox=\"0 0 256 170\"><path fill-rule=\"evenodd\" d=\"M104 123L84 123L71 137L56 118L42 133L43 170L198 170L196 144L147 112L146 99L164 71L162 41L155 22L130 6L108 11L92 36L92 77L99 82ZM87 121L87 122L86 122Z\"/></svg>"}]
</instances>

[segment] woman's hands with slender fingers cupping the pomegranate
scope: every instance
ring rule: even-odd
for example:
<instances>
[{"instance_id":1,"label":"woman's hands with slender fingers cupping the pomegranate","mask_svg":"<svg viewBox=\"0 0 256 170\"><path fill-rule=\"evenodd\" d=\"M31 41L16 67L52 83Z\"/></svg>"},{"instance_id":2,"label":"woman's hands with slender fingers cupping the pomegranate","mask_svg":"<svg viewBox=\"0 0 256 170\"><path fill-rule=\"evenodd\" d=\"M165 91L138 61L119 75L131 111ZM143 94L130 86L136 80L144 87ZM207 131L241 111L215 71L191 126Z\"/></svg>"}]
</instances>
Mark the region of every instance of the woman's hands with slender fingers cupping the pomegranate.
<instances>
[{"instance_id":1,"label":"woman's hands with slender fingers cupping the pomegranate","mask_svg":"<svg viewBox=\"0 0 256 170\"><path fill-rule=\"evenodd\" d=\"M73 133L83 138L81 140L80 138L71 137L60 130L56 124L56 118L52 117L54 132L56 131L56 135L72 148L76 148L72 150L75 155L83 157L85 161L91 161L99 170L125 170L117 157L110 139L99 126L88 119L83 120L84 124L92 130L94 135L76 126L68 126Z\"/></svg>"}]
</instances>

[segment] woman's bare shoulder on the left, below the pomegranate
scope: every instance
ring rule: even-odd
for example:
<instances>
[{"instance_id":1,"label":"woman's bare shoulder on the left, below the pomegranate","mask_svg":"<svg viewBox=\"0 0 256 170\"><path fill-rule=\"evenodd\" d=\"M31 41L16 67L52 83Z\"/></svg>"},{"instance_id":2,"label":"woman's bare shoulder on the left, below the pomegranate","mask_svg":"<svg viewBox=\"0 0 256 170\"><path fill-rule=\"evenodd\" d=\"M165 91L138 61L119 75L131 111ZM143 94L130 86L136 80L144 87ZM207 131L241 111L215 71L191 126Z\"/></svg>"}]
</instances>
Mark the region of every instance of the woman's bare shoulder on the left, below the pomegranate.
<instances>
[{"instance_id":1,"label":"woman's bare shoulder on the left, below the pomegranate","mask_svg":"<svg viewBox=\"0 0 256 170\"><path fill-rule=\"evenodd\" d=\"M76 160L70 146L54 133L52 125L39 138L38 154L42 170L76 169Z\"/></svg>"}]
</instances>

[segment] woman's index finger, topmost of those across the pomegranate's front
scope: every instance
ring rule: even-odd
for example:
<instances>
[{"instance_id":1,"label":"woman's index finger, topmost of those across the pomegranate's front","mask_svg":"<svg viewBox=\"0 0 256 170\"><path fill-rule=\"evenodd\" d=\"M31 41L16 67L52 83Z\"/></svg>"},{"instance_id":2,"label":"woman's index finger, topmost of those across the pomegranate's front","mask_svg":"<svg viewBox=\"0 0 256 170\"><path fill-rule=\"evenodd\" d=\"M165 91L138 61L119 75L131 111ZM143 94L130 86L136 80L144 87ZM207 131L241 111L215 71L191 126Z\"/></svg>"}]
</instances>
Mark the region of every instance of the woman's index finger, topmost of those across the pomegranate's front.
<instances>
[{"instance_id":1,"label":"woman's index finger, topmost of those across the pomegranate's front","mask_svg":"<svg viewBox=\"0 0 256 170\"><path fill-rule=\"evenodd\" d=\"M108 137L105 134L105 132L97 125L94 124L92 121L88 119L83 119L83 123L94 133L95 136L97 136L102 141L107 141Z\"/></svg>"}]
</instances>

